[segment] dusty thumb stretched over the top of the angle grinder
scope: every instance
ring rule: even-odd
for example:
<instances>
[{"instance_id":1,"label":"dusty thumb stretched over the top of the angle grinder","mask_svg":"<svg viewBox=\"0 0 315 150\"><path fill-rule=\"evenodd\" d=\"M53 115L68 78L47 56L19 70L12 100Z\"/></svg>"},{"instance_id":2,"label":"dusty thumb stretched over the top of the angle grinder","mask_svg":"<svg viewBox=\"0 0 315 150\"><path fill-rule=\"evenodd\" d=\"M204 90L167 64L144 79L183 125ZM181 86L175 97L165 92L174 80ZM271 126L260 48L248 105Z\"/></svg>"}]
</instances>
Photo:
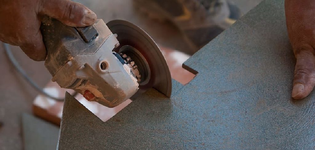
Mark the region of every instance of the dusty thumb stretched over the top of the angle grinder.
<instances>
[{"instance_id":1,"label":"dusty thumb stretched over the top of the angle grinder","mask_svg":"<svg viewBox=\"0 0 315 150\"><path fill-rule=\"evenodd\" d=\"M89 8L71 0L40 0L40 14L58 19L65 25L83 27L93 25L96 14Z\"/></svg>"}]
</instances>

